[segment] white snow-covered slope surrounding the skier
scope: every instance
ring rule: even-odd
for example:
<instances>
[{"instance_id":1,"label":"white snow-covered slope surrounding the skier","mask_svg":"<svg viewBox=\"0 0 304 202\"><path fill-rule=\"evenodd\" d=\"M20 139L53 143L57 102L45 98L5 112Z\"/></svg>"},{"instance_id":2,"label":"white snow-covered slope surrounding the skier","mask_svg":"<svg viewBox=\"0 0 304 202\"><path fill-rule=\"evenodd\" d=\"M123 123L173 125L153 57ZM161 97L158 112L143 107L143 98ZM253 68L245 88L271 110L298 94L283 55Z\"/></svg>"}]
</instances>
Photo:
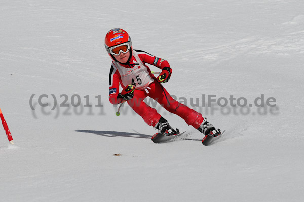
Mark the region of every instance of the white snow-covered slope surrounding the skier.
<instances>
[{"instance_id":1,"label":"white snow-covered slope surrounding the skier","mask_svg":"<svg viewBox=\"0 0 304 202\"><path fill-rule=\"evenodd\" d=\"M15 141L0 130L0 201L303 200L304 1L2 0L0 19L0 107ZM196 107L226 129L206 147L158 107L188 136L154 144L153 128L128 106L117 117L108 101L103 40L116 27L169 61L171 94L264 94L275 113ZM49 107L37 104L43 94ZM51 111L52 94L70 106L89 95L93 106Z\"/></svg>"}]
</instances>

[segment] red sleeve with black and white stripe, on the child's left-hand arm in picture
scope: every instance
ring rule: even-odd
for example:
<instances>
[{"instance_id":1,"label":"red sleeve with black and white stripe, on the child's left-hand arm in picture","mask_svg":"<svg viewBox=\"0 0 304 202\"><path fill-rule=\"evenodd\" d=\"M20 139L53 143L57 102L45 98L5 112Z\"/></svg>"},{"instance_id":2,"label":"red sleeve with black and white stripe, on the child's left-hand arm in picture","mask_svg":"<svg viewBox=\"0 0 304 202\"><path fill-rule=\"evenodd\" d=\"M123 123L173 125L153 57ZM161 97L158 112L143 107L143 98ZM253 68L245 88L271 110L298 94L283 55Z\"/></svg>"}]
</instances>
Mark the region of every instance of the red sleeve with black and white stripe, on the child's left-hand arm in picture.
<instances>
[{"instance_id":1,"label":"red sleeve with black and white stripe, on the child's left-hand arm in picture","mask_svg":"<svg viewBox=\"0 0 304 202\"><path fill-rule=\"evenodd\" d=\"M109 100L112 104L119 104L122 102L122 98L117 98L119 94L119 84L121 80L121 76L117 69L112 65L110 70L110 93Z\"/></svg>"}]
</instances>

